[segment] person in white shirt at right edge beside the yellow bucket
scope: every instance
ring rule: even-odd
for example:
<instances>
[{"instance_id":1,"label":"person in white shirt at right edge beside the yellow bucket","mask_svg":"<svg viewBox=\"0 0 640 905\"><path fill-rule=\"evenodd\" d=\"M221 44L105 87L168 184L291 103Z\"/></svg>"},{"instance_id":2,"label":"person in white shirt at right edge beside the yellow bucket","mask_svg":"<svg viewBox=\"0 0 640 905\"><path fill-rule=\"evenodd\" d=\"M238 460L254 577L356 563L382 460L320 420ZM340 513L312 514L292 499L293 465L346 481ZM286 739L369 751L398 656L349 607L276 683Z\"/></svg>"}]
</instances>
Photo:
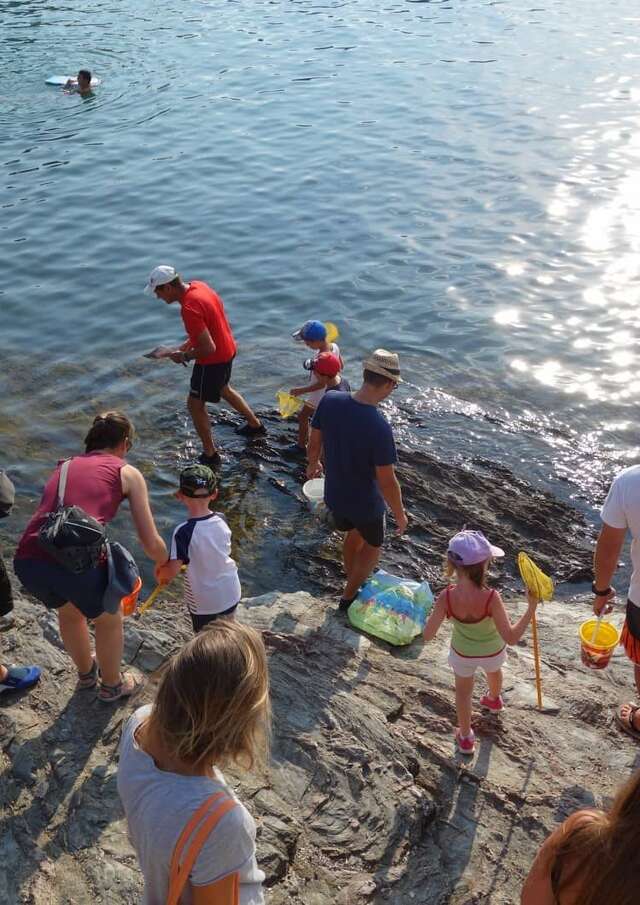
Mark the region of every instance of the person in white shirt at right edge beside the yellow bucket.
<instances>
[{"instance_id":1,"label":"person in white shirt at right edge beside the yellow bucket","mask_svg":"<svg viewBox=\"0 0 640 905\"><path fill-rule=\"evenodd\" d=\"M611 581L629 531L633 572L620 643L633 663L636 689L640 696L640 465L625 468L614 479L600 514L602 528L593 557L593 609L599 616L612 608L616 592L611 587ZM640 739L640 704L622 704L616 716L625 732Z\"/></svg>"}]
</instances>

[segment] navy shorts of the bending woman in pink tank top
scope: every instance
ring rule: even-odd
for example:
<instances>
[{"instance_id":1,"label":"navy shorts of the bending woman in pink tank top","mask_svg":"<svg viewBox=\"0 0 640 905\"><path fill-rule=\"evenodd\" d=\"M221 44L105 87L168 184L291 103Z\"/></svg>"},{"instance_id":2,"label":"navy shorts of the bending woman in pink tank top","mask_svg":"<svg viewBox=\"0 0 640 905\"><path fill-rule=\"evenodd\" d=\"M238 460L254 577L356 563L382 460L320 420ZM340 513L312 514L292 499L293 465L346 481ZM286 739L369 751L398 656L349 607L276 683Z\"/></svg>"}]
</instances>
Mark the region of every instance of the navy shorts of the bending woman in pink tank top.
<instances>
[{"instance_id":1,"label":"navy shorts of the bending woman in pink tank top","mask_svg":"<svg viewBox=\"0 0 640 905\"><path fill-rule=\"evenodd\" d=\"M50 610L73 603L87 619L96 619L104 613L106 563L81 575L45 559L14 559L13 568L24 589Z\"/></svg>"}]
</instances>

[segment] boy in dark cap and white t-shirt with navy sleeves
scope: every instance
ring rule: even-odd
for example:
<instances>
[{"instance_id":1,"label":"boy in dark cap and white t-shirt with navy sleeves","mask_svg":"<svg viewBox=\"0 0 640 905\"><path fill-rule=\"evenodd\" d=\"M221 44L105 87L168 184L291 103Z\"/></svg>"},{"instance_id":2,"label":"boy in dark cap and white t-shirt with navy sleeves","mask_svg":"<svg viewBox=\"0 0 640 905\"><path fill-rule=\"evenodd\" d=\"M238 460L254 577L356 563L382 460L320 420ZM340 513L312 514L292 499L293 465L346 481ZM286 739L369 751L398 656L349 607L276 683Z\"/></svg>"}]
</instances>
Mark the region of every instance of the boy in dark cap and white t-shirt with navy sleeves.
<instances>
[{"instance_id":1,"label":"boy in dark cap and white t-shirt with navy sleeves","mask_svg":"<svg viewBox=\"0 0 640 905\"><path fill-rule=\"evenodd\" d=\"M173 532L169 559L156 569L157 580L164 584L186 565L184 601L194 632L220 616L233 619L241 597L231 530L220 513L209 508L217 496L216 476L206 465L182 471L176 498L187 507L189 518Z\"/></svg>"}]
</instances>

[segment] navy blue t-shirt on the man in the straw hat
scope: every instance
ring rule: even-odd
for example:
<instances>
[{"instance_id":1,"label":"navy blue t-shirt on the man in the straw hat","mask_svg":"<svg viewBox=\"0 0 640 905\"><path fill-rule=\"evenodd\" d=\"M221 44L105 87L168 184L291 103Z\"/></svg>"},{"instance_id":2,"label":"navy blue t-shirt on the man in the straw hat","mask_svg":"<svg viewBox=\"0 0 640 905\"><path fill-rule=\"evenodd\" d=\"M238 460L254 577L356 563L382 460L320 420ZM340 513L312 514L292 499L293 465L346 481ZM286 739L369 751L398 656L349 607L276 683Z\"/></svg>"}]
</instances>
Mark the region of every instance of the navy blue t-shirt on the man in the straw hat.
<instances>
[{"instance_id":1,"label":"navy blue t-shirt on the man in the straw hat","mask_svg":"<svg viewBox=\"0 0 640 905\"><path fill-rule=\"evenodd\" d=\"M385 511L376 466L398 461L387 419L347 393L326 393L311 426L322 431L329 509L354 524L375 521Z\"/></svg>"}]
</instances>

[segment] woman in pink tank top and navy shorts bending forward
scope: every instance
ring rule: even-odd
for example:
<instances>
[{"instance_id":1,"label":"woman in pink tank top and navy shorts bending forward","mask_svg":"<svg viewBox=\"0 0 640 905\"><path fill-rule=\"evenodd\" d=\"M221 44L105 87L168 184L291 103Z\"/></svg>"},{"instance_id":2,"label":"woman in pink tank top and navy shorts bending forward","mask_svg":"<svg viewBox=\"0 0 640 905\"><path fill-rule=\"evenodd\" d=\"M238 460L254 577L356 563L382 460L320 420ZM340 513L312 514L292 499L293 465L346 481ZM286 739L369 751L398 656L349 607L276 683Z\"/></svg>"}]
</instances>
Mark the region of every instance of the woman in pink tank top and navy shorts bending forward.
<instances>
[{"instance_id":1,"label":"woman in pink tank top and navy shorts bending forward","mask_svg":"<svg viewBox=\"0 0 640 905\"><path fill-rule=\"evenodd\" d=\"M85 437L85 453L71 459L64 503L80 506L102 524L114 518L127 499L140 543L156 565L166 562L167 548L151 514L147 485L141 473L127 465L133 425L119 412L97 415ZM124 644L122 613L106 613L102 597L107 586L106 559L76 574L52 559L38 542L47 514L55 510L62 462L49 478L40 505L22 535L14 559L15 573L25 589L49 609L58 611L60 635L78 670L78 686L94 688L98 698L117 701L136 688L132 675L120 672ZM95 656L88 620L95 628Z\"/></svg>"}]
</instances>

